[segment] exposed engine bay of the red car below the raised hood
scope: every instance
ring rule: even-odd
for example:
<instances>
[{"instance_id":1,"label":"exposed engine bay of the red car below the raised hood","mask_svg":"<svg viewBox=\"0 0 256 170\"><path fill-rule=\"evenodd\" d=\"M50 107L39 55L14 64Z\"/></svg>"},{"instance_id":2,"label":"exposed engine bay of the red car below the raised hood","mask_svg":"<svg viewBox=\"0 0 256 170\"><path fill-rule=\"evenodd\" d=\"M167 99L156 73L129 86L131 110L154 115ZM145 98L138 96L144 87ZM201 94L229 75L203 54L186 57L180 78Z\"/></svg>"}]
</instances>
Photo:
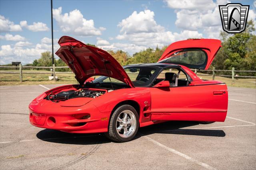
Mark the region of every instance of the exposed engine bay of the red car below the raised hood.
<instances>
[{"instance_id":1,"label":"exposed engine bay of the red car below the raised hood","mask_svg":"<svg viewBox=\"0 0 256 170\"><path fill-rule=\"evenodd\" d=\"M66 101L78 97L90 97L95 99L96 97L104 95L105 93L107 93L107 90L105 89L68 89L57 92L55 94L51 93L47 95L44 99L54 102Z\"/></svg>"}]
</instances>

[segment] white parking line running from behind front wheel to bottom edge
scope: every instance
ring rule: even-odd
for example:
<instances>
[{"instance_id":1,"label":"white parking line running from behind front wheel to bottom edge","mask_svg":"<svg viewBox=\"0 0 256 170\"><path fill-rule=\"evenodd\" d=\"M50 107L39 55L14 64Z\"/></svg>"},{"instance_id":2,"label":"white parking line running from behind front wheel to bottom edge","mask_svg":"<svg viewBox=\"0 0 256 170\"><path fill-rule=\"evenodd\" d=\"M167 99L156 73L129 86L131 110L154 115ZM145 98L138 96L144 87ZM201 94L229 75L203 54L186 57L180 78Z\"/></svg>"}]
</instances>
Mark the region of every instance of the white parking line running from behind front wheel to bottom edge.
<instances>
[{"instance_id":1,"label":"white parking line running from behind front wheel to bottom edge","mask_svg":"<svg viewBox=\"0 0 256 170\"><path fill-rule=\"evenodd\" d=\"M200 166L202 166L202 167L204 167L206 169L215 170L215 168L213 168L212 166L210 166L208 164L205 164L203 162L200 162L199 160L196 160L196 159L194 159L194 158L192 158L192 157L190 157L190 156L188 156L186 154L183 154L183 153L181 153L181 152L179 152L179 151L177 151L177 150L175 150L173 148L165 146L164 144L161 144L161 143L157 142L156 140L154 140L154 139L152 139L152 138L150 138L148 136L144 136L144 138L146 138L150 142L153 142L154 144L160 146L161 148L164 148L164 149L166 149L166 150L168 150L168 151L170 151L170 152L172 152L174 154L177 154L178 156L181 156L181 157L183 157L183 158L185 158L185 159L187 159L187 160L189 160L191 162L194 162L194 163L196 163L196 164L198 164L198 165L200 165Z\"/></svg>"}]
</instances>

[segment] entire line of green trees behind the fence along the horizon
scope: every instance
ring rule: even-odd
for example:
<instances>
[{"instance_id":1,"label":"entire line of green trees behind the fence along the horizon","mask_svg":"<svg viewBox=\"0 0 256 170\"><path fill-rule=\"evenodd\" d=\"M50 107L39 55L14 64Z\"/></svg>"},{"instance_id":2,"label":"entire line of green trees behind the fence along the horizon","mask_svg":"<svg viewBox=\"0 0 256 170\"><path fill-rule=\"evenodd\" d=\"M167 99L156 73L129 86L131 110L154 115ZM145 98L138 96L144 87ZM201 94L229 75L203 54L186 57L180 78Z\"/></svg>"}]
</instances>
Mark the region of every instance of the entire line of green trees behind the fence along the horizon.
<instances>
[{"instance_id":1,"label":"entire line of green trees behind the fence along the horizon","mask_svg":"<svg viewBox=\"0 0 256 170\"><path fill-rule=\"evenodd\" d=\"M247 23L246 30L240 34L220 33L222 47L218 51L212 65L215 69L256 70L256 35L252 20ZM87 44L92 45L92 44ZM92 45L96 47L95 45ZM130 56L122 50L108 51L121 65L133 63L155 63L166 49L164 47L147 48ZM56 66L66 66L61 59L54 59ZM10 64L9 64L10 65ZM32 66L51 66L52 55L50 52L42 53L39 59L33 61ZM70 71L58 69L57 71Z\"/></svg>"}]
</instances>

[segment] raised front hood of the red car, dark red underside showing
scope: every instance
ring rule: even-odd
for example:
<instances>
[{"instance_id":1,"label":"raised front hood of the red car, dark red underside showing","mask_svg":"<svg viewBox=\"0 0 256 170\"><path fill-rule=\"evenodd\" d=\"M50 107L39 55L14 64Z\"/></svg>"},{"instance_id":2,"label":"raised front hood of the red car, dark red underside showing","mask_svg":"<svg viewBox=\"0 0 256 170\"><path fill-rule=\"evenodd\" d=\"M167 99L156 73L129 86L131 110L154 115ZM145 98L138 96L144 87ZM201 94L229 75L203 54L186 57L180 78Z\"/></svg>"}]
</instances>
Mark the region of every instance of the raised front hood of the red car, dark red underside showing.
<instances>
[{"instance_id":1,"label":"raised front hood of the red car, dark red underside showing","mask_svg":"<svg viewBox=\"0 0 256 170\"><path fill-rule=\"evenodd\" d=\"M122 66L108 52L68 36L61 37L58 43L60 49L56 55L70 67L80 84L92 76L102 75L134 87Z\"/></svg>"}]
</instances>

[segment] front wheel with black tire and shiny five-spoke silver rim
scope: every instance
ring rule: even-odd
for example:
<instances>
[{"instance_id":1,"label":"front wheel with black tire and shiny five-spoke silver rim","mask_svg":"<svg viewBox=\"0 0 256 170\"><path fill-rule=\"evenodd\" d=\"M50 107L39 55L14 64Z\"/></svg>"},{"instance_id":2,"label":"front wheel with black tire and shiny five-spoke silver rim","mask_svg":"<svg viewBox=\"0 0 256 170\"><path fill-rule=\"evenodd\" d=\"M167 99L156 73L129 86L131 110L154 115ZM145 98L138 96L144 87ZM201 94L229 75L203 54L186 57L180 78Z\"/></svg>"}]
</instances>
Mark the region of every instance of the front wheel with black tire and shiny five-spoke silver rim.
<instances>
[{"instance_id":1,"label":"front wheel with black tire and shiny five-spoke silver rim","mask_svg":"<svg viewBox=\"0 0 256 170\"><path fill-rule=\"evenodd\" d=\"M118 107L110 117L106 136L116 142L128 142L138 131L138 120L138 113L131 105Z\"/></svg>"}]
</instances>

